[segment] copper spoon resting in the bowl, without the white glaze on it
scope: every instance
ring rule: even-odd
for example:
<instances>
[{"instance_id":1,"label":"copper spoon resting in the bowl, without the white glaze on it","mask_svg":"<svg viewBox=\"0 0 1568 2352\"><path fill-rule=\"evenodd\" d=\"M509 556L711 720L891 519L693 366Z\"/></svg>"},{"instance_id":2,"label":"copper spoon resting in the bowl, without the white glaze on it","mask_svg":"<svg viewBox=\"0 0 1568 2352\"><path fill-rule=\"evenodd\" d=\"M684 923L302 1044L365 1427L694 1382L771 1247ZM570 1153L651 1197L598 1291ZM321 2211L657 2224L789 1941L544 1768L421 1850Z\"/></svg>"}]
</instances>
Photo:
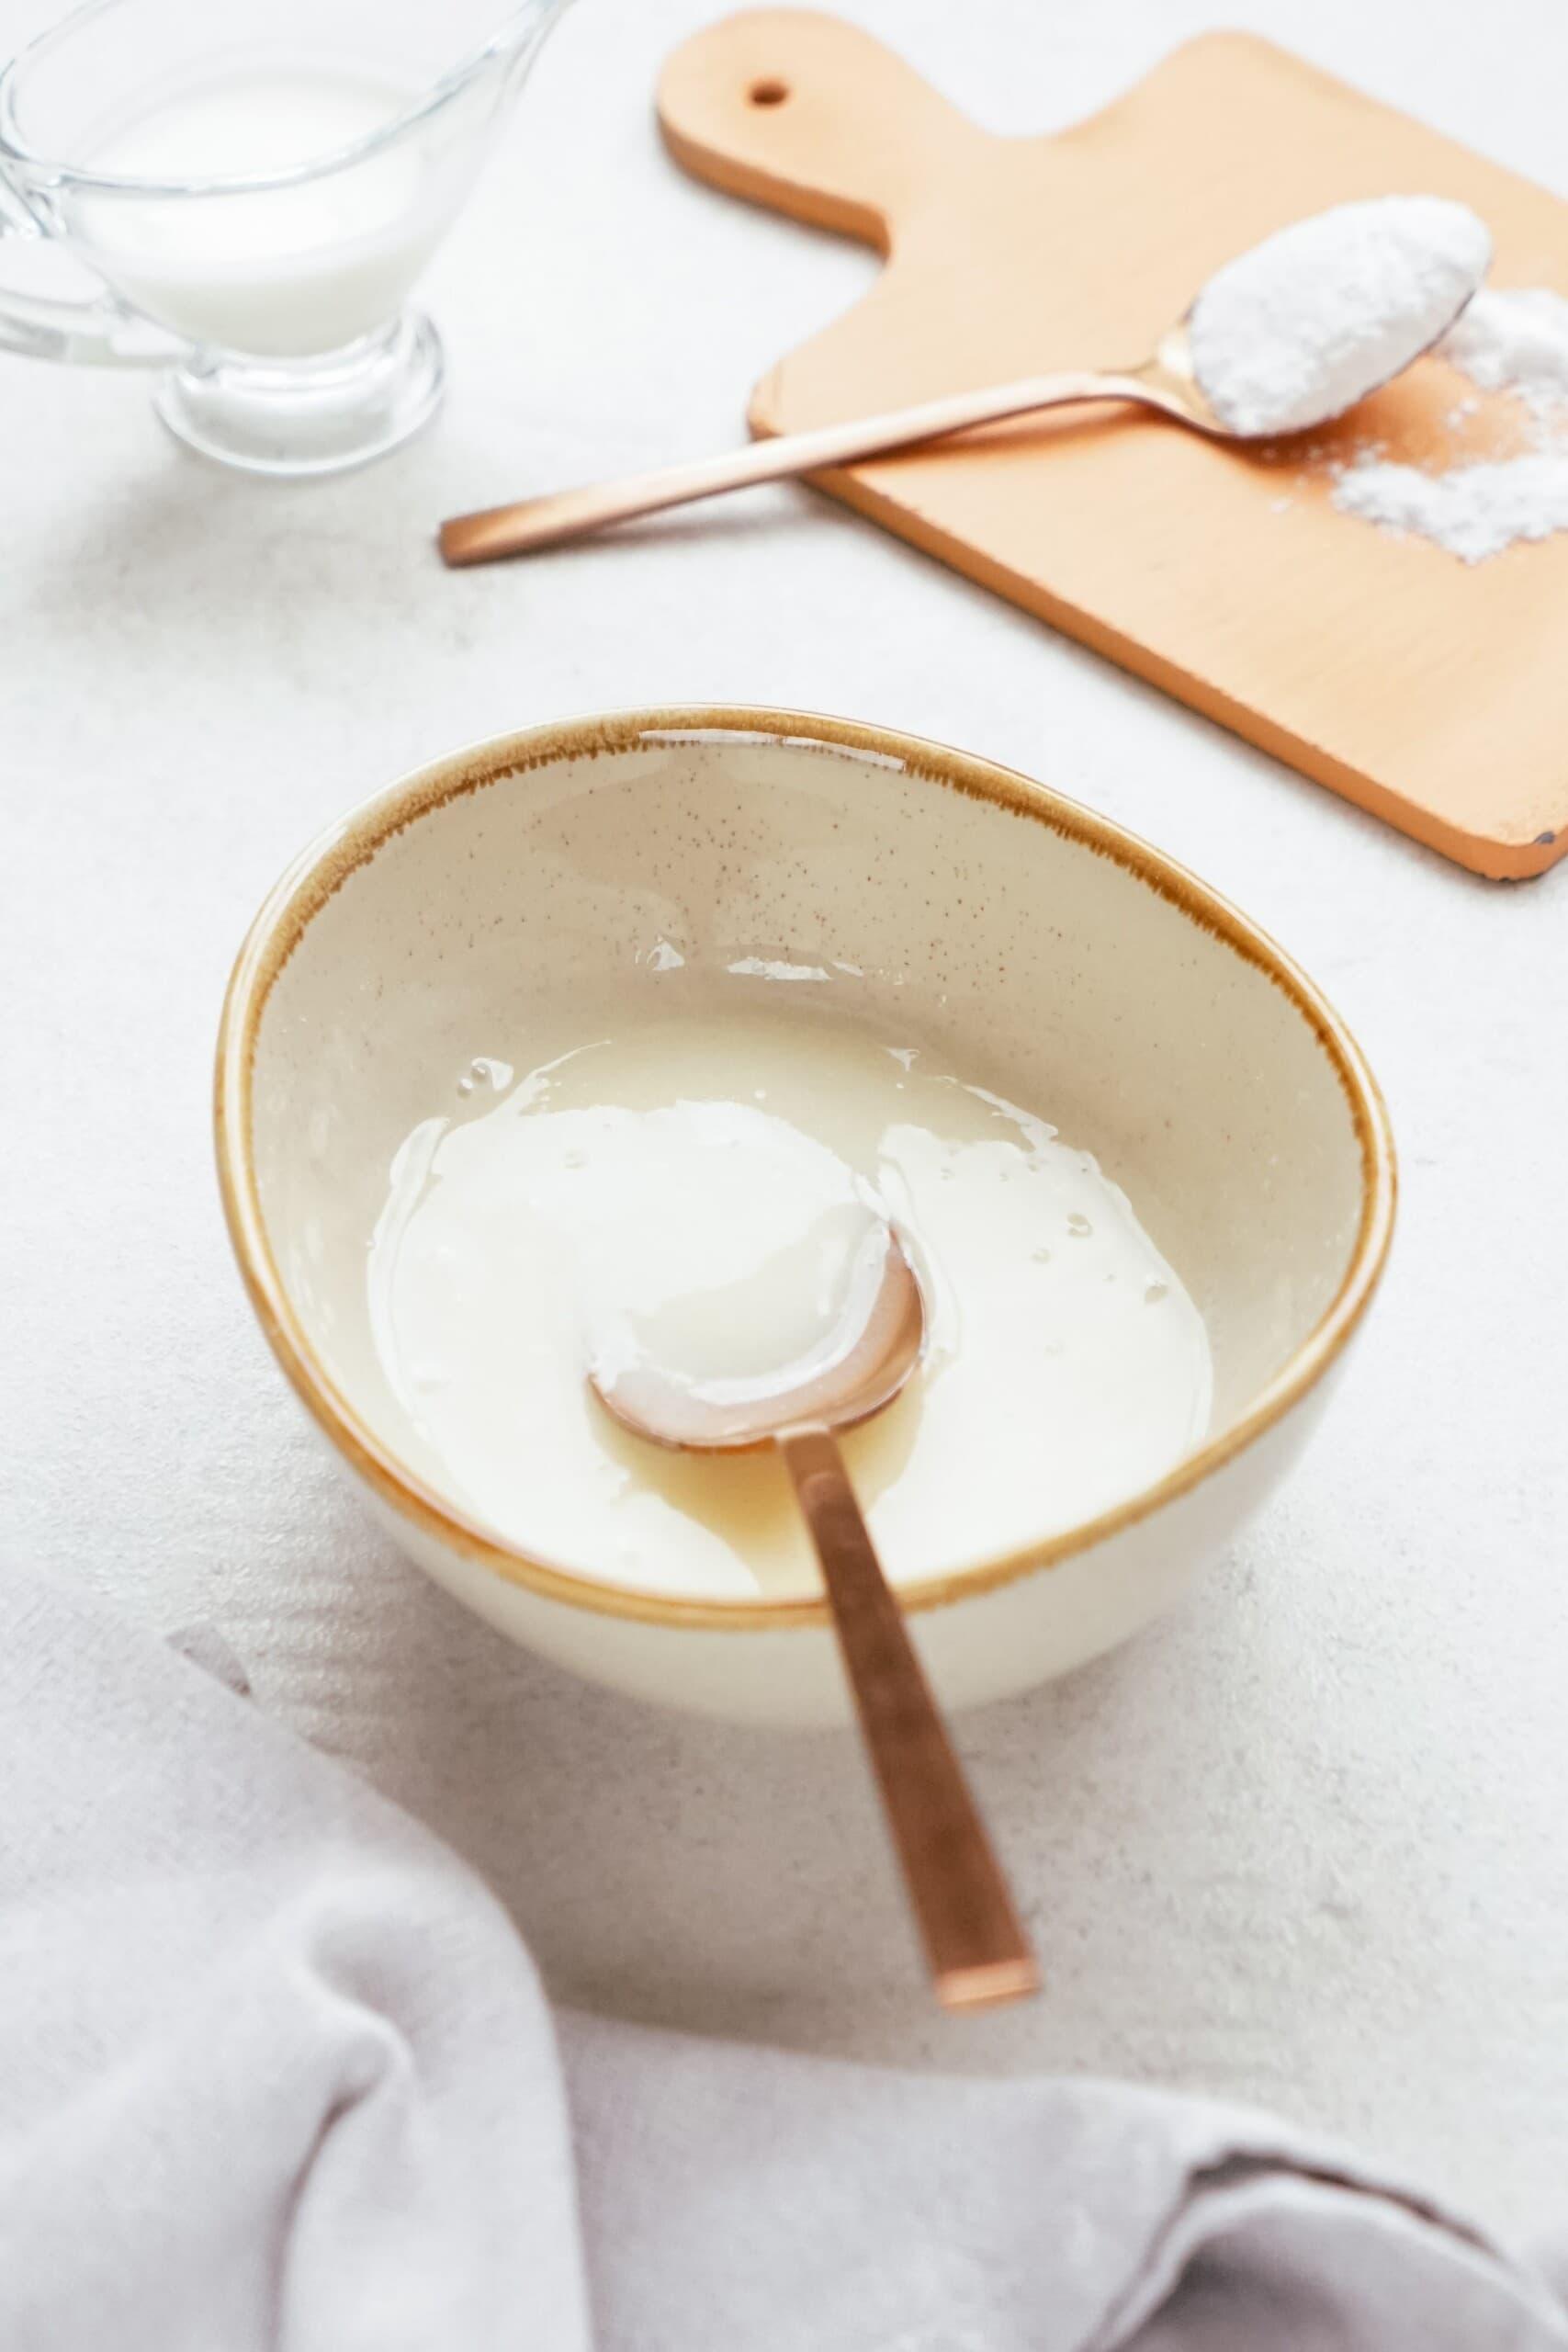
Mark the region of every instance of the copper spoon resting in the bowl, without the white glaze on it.
<instances>
[{"instance_id":1,"label":"copper spoon resting in the bowl, without the white glaze on it","mask_svg":"<svg viewBox=\"0 0 1568 2352\"><path fill-rule=\"evenodd\" d=\"M835 1437L893 1402L919 1362L924 1336L919 1282L889 1230L865 1322L825 1369L771 1395L755 1395L748 1383L741 1402L703 1392L646 1357L595 1367L590 1381L623 1428L661 1446L731 1454L771 1442L783 1454L823 1564L936 1994L947 2009L978 2009L1037 1992L1039 1969Z\"/></svg>"}]
</instances>

